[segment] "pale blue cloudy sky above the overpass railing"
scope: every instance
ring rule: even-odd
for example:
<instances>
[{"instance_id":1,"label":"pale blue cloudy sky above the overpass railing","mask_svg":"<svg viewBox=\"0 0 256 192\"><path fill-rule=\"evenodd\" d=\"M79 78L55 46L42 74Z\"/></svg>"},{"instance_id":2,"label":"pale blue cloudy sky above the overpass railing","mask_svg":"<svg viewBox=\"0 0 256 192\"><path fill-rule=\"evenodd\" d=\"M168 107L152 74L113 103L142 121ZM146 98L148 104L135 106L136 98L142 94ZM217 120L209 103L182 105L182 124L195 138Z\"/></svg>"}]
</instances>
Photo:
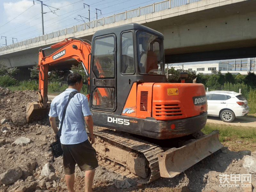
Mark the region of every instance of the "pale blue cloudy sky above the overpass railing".
<instances>
[{"instance_id":1,"label":"pale blue cloudy sky above the overpass railing","mask_svg":"<svg viewBox=\"0 0 256 192\"><path fill-rule=\"evenodd\" d=\"M90 5L90 20L129 11L138 7L153 4L154 0L41 0L43 1L44 34L69 28L88 22L88 6ZM0 46L21 42L42 36L41 2L34 0L0 0ZM57 10L59 9L59 10ZM54 11L55 10L55 11ZM82 18L78 15L81 15ZM74 18L78 19L75 20ZM81 21L79 21L81 20ZM13 38L13 39L12 39Z\"/></svg>"}]
</instances>

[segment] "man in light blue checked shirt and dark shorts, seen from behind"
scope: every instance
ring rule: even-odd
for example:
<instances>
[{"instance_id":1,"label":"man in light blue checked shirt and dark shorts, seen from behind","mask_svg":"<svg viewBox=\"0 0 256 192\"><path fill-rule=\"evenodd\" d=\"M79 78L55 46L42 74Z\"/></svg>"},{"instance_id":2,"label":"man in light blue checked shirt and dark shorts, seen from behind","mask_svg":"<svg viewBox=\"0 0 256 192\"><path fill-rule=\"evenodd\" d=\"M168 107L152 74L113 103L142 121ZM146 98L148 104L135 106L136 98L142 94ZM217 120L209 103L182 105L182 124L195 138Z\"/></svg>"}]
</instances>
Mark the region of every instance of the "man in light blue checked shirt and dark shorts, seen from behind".
<instances>
[{"instance_id":1,"label":"man in light blue checked shirt and dark shorts, seen from behind","mask_svg":"<svg viewBox=\"0 0 256 192\"><path fill-rule=\"evenodd\" d=\"M72 91L79 92L83 86L82 76L78 73L69 74L67 81L68 89L56 96L51 103L49 120L55 135L58 132L56 117L58 116L61 122L69 94ZM95 138L91 115L86 96L80 93L75 94L68 104L60 136L64 172L69 192L74 192L76 164L81 171L85 171L85 192L92 192L92 181L95 168L98 167L98 161L96 159L96 151L92 147ZM89 139L92 144L88 141L87 133L84 129L85 124L89 130Z\"/></svg>"}]
</instances>

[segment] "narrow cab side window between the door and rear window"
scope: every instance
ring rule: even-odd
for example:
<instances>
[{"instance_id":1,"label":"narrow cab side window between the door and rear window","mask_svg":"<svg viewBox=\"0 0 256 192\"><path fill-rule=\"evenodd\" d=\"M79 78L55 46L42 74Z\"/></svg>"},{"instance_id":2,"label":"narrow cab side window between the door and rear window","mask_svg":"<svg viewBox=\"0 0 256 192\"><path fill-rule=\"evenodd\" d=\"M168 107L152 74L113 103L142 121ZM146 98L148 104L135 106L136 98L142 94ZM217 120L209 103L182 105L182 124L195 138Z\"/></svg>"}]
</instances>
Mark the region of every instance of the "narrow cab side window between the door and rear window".
<instances>
[{"instance_id":1,"label":"narrow cab side window between the door and rear window","mask_svg":"<svg viewBox=\"0 0 256 192\"><path fill-rule=\"evenodd\" d=\"M132 32L126 32L122 34L122 74L134 74L135 62L134 62L134 49Z\"/></svg>"}]
</instances>

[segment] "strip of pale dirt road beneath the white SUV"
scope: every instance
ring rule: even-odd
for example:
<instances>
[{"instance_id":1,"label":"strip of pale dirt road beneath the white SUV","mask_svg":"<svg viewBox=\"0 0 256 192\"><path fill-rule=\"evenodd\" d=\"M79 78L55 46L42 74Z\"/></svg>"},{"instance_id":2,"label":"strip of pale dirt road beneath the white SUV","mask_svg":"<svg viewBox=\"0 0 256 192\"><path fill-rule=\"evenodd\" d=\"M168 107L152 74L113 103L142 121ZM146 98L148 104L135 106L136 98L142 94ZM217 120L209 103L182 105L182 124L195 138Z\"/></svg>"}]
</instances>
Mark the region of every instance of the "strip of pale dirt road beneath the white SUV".
<instances>
[{"instance_id":1,"label":"strip of pale dirt road beneath the white SUV","mask_svg":"<svg viewBox=\"0 0 256 192\"><path fill-rule=\"evenodd\" d=\"M245 126L245 127L256 127L256 117L236 117L232 123L226 123L221 121L220 117L207 117L207 123L216 123L216 124L226 124L226 125L235 125L235 126Z\"/></svg>"}]
</instances>

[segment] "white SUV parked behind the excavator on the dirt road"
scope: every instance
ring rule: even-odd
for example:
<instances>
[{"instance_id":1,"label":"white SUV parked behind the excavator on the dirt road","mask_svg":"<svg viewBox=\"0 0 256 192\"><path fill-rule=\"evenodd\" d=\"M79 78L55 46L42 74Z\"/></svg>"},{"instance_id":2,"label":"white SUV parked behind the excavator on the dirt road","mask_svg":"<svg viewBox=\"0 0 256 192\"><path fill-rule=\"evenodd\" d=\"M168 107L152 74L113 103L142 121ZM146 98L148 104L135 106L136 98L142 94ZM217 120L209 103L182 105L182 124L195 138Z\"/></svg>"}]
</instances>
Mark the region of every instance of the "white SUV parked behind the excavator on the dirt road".
<instances>
[{"instance_id":1,"label":"white SUV parked behind the excavator on the dirt road","mask_svg":"<svg viewBox=\"0 0 256 192\"><path fill-rule=\"evenodd\" d=\"M224 122L232 122L237 116L249 113L247 100L233 91L206 92L208 116L220 116Z\"/></svg>"}]
</instances>

